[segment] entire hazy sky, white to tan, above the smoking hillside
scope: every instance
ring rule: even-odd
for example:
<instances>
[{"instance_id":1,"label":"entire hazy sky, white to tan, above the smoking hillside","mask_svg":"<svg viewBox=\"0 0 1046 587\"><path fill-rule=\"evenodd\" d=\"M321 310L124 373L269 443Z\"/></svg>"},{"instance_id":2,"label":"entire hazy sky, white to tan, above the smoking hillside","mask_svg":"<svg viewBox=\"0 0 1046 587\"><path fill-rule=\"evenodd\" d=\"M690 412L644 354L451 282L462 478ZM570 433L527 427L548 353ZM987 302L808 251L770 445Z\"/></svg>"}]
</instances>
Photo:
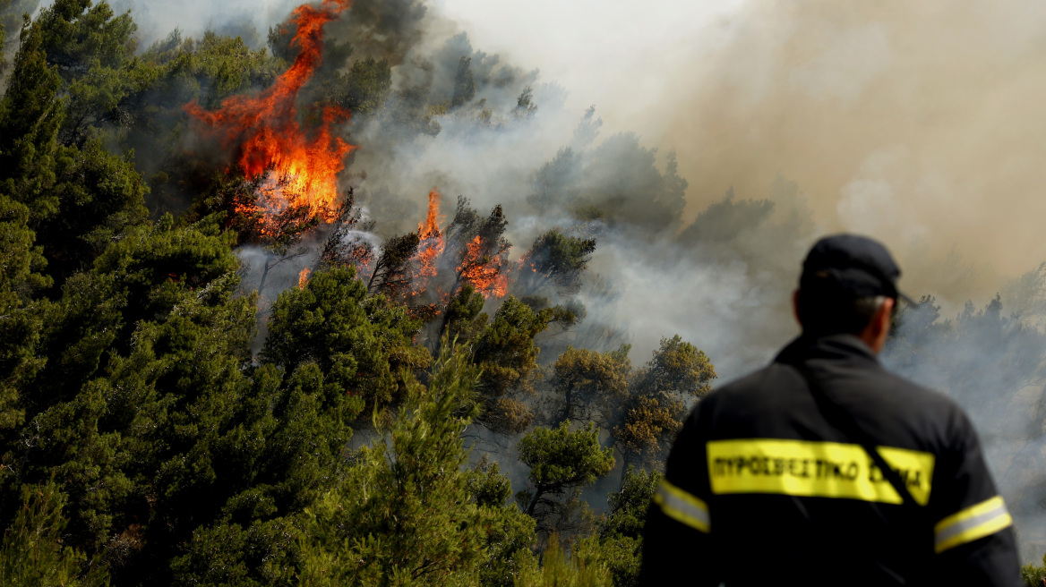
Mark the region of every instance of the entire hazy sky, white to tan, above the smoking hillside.
<instances>
[{"instance_id":1,"label":"entire hazy sky, white to tan, above the smoking hillside","mask_svg":"<svg viewBox=\"0 0 1046 587\"><path fill-rule=\"evenodd\" d=\"M824 230L975 263L940 285L957 299L1046 260L1040 2L436 1L607 132L678 150L690 216L731 186L765 197L781 172Z\"/></svg>"}]
</instances>

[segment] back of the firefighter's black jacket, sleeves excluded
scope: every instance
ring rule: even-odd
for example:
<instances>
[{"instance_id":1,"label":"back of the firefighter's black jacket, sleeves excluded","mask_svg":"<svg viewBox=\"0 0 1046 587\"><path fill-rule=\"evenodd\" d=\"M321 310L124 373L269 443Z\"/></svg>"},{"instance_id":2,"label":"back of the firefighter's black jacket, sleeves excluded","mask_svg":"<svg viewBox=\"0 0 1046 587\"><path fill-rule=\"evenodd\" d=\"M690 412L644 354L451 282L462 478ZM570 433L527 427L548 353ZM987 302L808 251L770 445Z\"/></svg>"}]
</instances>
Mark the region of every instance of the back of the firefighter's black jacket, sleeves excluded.
<instances>
[{"instance_id":1,"label":"back of the firefighter's black jacket, sleeves excluded","mask_svg":"<svg viewBox=\"0 0 1046 587\"><path fill-rule=\"evenodd\" d=\"M910 582L934 557L933 515L900 503L864 450L825 418L796 366L831 385L878 445L910 457L914 466L899 469L928 508L934 465L955 444L949 435L967 426L962 413L835 338L788 349L695 415L728 585L763 584L768 568L808 582L888 585Z\"/></svg>"}]
</instances>

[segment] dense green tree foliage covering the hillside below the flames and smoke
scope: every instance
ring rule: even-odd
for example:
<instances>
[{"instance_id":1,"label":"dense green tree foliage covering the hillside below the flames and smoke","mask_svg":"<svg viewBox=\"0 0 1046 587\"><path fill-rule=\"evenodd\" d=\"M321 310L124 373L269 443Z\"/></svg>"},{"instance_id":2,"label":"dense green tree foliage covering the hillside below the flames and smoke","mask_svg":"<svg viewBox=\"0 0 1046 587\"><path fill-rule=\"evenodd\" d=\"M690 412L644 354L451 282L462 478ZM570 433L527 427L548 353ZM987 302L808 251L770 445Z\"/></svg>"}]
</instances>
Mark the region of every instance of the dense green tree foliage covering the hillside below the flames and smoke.
<instances>
[{"instance_id":1,"label":"dense green tree foliage covering the hillside below the flames and smoke","mask_svg":"<svg viewBox=\"0 0 1046 587\"><path fill-rule=\"evenodd\" d=\"M184 148L183 105L272 84L294 58L286 31L272 53L214 32L142 48L104 2L56 0L23 25L25 7L0 4L0 39L17 39L0 72L0 582L634 582L657 474L622 469L598 515L583 491L615 452L656 468L714 372L678 336L639 370L628 346L541 354L585 318L595 238L546 231L520 261L532 272L488 299L476 276L507 275L507 219L462 199L445 230L455 271L418 303L417 233L361 248L350 195L334 224L292 210L260 230L237 214L257 182L213 145ZM452 99L425 103L351 52L332 44L348 65L312 99L402 133L438 133L433 116L491 84L461 57ZM242 248L277 271L323 237L298 287L244 282ZM505 448L477 450L476 430ZM517 495L501 471L520 465Z\"/></svg>"}]
</instances>

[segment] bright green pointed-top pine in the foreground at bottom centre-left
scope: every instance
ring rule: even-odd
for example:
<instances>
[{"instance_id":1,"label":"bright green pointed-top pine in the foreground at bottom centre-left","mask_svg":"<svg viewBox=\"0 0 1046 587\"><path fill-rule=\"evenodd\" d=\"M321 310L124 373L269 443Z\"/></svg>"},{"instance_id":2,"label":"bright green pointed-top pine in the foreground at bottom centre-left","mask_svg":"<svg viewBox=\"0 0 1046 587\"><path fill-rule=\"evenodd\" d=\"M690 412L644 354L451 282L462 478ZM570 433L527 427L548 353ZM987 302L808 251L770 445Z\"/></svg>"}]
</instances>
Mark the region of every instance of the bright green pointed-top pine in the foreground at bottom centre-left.
<instances>
[{"instance_id":1,"label":"bright green pointed-top pine in the foreground at bottom centre-left","mask_svg":"<svg viewBox=\"0 0 1046 587\"><path fill-rule=\"evenodd\" d=\"M505 584L505 563L525 564L532 522L505 506L506 482L463 469L460 433L478 414L478 375L465 353L444 346L428 391L412 384L390 441L361 449L310 510L302 584ZM493 565L491 554L500 558Z\"/></svg>"}]
</instances>

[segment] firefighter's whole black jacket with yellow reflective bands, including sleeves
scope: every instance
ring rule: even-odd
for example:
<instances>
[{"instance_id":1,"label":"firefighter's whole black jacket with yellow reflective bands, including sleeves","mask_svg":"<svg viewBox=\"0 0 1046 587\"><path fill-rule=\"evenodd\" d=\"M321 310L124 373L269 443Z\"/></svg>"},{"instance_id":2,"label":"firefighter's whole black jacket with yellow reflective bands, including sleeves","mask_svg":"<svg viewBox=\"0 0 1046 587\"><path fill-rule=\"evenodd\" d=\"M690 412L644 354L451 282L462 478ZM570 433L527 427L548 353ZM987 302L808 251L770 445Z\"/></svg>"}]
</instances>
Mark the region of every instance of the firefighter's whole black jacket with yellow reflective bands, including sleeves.
<instances>
[{"instance_id":1,"label":"firefighter's whole black jacket with yellow reflective bands, including sleeves","mask_svg":"<svg viewBox=\"0 0 1046 587\"><path fill-rule=\"evenodd\" d=\"M819 410L804 365L917 504ZM799 337L702 399L647 514L642 585L1023 585L970 420L856 336Z\"/></svg>"}]
</instances>

